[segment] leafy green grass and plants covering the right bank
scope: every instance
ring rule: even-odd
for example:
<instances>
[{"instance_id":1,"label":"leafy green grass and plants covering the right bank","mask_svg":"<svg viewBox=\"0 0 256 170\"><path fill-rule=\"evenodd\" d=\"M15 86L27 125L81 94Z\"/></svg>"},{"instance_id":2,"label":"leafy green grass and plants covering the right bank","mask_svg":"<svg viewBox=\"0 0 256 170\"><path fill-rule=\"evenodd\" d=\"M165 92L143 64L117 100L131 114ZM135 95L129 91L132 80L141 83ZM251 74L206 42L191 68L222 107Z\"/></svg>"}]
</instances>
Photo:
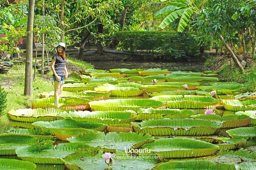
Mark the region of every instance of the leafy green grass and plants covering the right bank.
<instances>
[{"instance_id":1,"label":"leafy green grass and plants covering the right bank","mask_svg":"<svg viewBox=\"0 0 256 170\"><path fill-rule=\"evenodd\" d=\"M238 68L225 64L220 70L220 77L228 82L235 81L244 84L243 92L256 91L256 67L252 64L241 72Z\"/></svg>"}]
</instances>

